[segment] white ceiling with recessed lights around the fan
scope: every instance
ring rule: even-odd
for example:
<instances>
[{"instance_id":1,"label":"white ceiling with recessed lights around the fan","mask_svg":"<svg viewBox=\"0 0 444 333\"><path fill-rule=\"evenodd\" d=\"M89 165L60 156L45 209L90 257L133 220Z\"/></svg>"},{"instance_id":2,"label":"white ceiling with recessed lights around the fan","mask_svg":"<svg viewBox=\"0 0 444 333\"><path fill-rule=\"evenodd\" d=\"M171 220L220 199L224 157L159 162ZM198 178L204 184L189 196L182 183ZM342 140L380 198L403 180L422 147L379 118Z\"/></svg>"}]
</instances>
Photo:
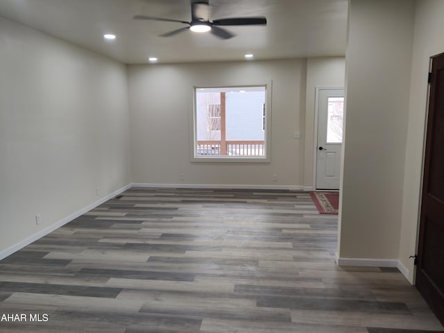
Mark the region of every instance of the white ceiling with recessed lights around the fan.
<instances>
[{"instance_id":1,"label":"white ceiling with recessed lights around the fan","mask_svg":"<svg viewBox=\"0 0 444 333\"><path fill-rule=\"evenodd\" d=\"M1 0L0 16L60 37L128 64L344 56L348 0L210 0L210 18L265 16L266 26L228 26L236 36L185 31L175 22L133 19L134 15L189 22L190 0ZM113 33L107 41L103 34Z\"/></svg>"}]
</instances>

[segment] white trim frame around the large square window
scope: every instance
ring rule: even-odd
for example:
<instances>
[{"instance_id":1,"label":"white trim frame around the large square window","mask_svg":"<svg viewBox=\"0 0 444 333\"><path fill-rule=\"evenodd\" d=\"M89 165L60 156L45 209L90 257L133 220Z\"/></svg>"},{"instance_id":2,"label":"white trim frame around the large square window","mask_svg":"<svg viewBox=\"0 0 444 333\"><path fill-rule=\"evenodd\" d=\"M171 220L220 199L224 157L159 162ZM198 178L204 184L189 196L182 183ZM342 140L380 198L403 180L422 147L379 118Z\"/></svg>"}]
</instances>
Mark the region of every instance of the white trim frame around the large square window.
<instances>
[{"instance_id":1,"label":"white trim frame around the large square window","mask_svg":"<svg viewBox=\"0 0 444 333\"><path fill-rule=\"evenodd\" d=\"M196 89L210 88L210 87L265 87L265 105L266 105L266 117L265 117L265 144L264 151L265 156L220 156L220 155L196 155L197 146L197 128L196 128ZM203 163L270 163L271 162L271 92L272 92L272 80L266 80L266 83L248 83L239 84L234 83L232 85L193 85L191 87L191 102L189 105L189 156L191 162L203 162Z\"/></svg>"}]
</instances>

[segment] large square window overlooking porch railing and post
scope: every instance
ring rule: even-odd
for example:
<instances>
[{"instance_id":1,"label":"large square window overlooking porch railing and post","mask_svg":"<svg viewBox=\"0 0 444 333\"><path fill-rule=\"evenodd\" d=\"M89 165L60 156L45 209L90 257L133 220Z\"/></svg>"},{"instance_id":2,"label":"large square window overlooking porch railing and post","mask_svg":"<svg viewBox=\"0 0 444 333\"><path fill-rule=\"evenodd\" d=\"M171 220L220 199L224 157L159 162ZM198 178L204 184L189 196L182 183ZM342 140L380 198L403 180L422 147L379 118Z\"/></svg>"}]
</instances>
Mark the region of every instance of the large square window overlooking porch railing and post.
<instances>
[{"instance_id":1,"label":"large square window overlooking porch railing and post","mask_svg":"<svg viewBox=\"0 0 444 333\"><path fill-rule=\"evenodd\" d=\"M268 162L266 85L194 88L194 161Z\"/></svg>"}]
</instances>

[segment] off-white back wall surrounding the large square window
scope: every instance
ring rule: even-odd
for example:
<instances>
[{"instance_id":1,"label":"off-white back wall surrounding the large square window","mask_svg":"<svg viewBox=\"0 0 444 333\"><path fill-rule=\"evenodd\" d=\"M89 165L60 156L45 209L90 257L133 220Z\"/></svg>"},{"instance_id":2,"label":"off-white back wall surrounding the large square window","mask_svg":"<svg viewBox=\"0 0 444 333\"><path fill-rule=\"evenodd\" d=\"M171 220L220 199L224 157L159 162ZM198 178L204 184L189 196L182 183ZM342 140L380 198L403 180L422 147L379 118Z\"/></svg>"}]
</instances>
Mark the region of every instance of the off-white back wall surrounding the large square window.
<instances>
[{"instance_id":1,"label":"off-white back wall surrounding the large square window","mask_svg":"<svg viewBox=\"0 0 444 333\"><path fill-rule=\"evenodd\" d=\"M293 133L304 126L305 65L305 60L276 60L128 66L133 181L300 187L303 146ZM268 80L273 80L271 163L190 162L193 85L260 85Z\"/></svg>"}]
</instances>

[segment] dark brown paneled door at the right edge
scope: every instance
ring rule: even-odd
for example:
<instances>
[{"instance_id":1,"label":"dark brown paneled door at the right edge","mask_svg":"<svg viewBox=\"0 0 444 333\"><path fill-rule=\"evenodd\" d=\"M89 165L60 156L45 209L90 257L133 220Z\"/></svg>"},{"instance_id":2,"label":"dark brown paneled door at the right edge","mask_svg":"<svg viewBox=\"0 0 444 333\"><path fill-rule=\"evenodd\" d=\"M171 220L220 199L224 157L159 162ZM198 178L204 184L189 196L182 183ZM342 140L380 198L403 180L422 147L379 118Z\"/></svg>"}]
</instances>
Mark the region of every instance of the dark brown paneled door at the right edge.
<instances>
[{"instance_id":1,"label":"dark brown paneled door at the right edge","mask_svg":"<svg viewBox=\"0 0 444 333\"><path fill-rule=\"evenodd\" d=\"M432 58L416 287L444 323L444 53Z\"/></svg>"}]
</instances>

